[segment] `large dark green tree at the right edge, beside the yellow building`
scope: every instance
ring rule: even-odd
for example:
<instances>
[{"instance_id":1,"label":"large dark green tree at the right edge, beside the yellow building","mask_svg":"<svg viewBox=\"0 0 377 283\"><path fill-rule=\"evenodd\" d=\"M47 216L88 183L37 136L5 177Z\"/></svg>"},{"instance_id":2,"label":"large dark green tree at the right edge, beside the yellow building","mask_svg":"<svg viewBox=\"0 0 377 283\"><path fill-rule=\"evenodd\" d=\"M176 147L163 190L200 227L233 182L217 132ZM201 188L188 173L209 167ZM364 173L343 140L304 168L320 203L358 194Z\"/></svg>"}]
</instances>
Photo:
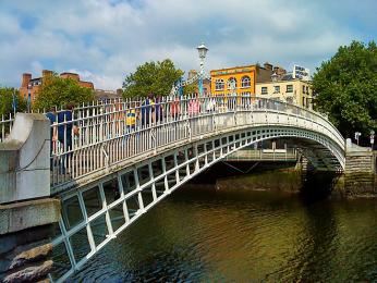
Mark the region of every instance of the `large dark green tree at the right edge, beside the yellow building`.
<instances>
[{"instance_id":1,"label":"large dark green tree at the right edge, beside the yellow building","mask_svg":"<svg viewBox=\"0 0 377 283\"><path fill-rule=\"evenodd\" d=\"M348 137L377 128L377 46L353 41L317 67L313 78L315 109Z\"/></svg>"}]
</instances>

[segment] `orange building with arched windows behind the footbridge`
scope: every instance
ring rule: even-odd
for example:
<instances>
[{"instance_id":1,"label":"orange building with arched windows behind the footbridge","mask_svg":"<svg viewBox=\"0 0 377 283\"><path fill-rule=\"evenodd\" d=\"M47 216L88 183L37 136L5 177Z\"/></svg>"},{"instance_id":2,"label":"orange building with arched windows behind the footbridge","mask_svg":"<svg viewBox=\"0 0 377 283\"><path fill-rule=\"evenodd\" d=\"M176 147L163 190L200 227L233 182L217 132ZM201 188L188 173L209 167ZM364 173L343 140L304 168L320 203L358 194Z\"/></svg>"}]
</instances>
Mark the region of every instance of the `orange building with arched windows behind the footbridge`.
<instances>
[{"instance_id":1,"label":"orange building with arched windows behind the footbridge","mask_svg":"<svg viewBox=\"0 0 377 283\"><path fill-rule=\"evenodd\" d=\"M221 94L255 94L256 83L268 82L271 79L272 65L265 63L233 66L210 71L211 90L215 95Z\"/></svg>"}]
</instances>

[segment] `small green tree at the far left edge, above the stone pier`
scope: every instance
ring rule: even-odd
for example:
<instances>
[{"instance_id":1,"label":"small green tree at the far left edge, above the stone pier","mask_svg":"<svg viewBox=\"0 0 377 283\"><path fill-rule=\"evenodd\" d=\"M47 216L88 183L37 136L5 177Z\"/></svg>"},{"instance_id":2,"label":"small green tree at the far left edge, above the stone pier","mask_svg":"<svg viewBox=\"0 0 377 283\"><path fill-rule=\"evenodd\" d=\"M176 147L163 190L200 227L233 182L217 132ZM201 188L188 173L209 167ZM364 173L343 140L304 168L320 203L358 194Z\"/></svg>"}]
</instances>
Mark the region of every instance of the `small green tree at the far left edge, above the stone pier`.
<instances>
[{"instance_id":1,"label":"small green tree at the far left edge, above the stone pier","mask_svg":"<svg viewBox=\"0 0 377 283\"><path fill-rule=\"evenodd\" d=\"M20 95L19 89L13 87L0 87L0 115L9 118L13 114L13 94L16 97L16 112L24 112L26 110L26 101Z\"/></svg>"}]
</instances>

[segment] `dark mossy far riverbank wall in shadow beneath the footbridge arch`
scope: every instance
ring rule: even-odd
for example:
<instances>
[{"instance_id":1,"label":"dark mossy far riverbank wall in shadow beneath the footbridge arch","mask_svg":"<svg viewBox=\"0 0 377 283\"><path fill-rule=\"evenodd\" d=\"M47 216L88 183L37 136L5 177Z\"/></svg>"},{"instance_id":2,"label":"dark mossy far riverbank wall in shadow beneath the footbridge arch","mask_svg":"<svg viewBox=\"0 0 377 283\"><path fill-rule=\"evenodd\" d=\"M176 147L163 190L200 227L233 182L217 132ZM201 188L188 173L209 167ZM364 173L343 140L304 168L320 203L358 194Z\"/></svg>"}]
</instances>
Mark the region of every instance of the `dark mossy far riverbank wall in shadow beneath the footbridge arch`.
<instances>
[{"instance_id":1,"label":"dark mossy far riverbank wall in shadow beneath the footbridge arch","mask_svg":"<svg viewBox=\"0 0 377 283\"><path fill-rule=\"evenodd\" d=\"M350 189L350 177L328 171L302 172L293 164L219 163L200 174L187 187L208 186L218 190L250 189L303 194L314 198L376 198L370 189ZM348 179L346 179L348 177ZM360 183L360 177L354 176ZM348 182L345 182L345 180ZM357 184L358 184L357 183ZM376 182L375 182L376 184Z\"/></svg>"}]
</instances>

